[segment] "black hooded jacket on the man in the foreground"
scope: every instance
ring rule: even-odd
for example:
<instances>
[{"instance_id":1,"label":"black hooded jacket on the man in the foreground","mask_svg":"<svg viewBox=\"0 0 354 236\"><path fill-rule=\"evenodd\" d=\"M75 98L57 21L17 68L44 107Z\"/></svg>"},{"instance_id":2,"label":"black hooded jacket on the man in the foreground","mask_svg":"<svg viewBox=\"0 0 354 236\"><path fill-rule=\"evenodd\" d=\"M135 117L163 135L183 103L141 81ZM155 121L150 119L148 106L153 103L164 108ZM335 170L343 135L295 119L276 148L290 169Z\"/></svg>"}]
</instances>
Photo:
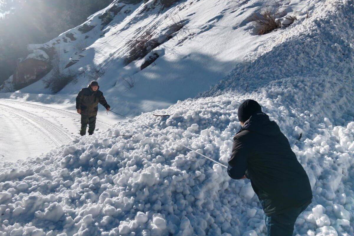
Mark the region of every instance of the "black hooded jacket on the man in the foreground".
<instances>
[{"instance_id":1,"label":"black hooded jacket on the man in the foreground","mask_svg":"<svg viewBox=\"0 0 354 236\"><path fill-rule=\"evenodd\" d=\"M234 137L228 174L244 175L267 215L303 206L312 200L309 178L291 150L289 141L268 115L257 113Z\"/></svg>"}]
</instances>

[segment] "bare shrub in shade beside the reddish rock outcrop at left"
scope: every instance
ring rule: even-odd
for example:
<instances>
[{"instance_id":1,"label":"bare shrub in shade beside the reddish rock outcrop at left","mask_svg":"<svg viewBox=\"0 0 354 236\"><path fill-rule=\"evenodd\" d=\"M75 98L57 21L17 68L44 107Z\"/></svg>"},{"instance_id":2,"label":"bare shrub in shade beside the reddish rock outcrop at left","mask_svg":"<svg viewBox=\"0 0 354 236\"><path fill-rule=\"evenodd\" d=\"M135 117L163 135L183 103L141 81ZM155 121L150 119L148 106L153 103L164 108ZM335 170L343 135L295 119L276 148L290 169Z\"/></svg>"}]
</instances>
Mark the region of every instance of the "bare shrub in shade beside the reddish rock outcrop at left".
<instances>
[{"instance_id":1,"label":"bare shrub in shade beside the reddish rock outcrop at left","mask_svg":"<svg viewBox=\"0 0 354 236\"><path fill-rule=\"evenodd\" d=\"M47 79L43 80L45 88L50 88L52 92L57 93L70 82L73 82L74 84L78 82L78 76L81 73L74 72L70 69L68 69L66 73L63 73L62 71L63 67L60 60L56 59L53 64L51 75Z\"/></svg>"}]
</instances>

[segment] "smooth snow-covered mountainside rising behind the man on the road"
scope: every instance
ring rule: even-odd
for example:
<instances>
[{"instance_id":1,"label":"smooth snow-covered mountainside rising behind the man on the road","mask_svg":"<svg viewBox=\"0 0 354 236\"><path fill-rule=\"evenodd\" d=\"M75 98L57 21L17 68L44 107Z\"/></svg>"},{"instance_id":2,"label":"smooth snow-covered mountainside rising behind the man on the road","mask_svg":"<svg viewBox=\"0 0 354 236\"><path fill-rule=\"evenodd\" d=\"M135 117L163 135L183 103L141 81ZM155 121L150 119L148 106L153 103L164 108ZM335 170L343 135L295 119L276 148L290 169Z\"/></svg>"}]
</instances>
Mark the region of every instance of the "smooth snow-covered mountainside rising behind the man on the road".
<instances>
[{"instance_id":1,"label":"smooth snow-covered mountainside rising behind the man on the road","mask_svg":"<svg viewBox=\"0 0 354 236\"><path fill-rule=\"evenodd\" d=\"M31 54L5 82L7 90L16 90L13 81L31 83L50 72L19 92L1 96L39 102L70 98L74 109L75 95L97 79L109 104L121 113L167 108L209 90L246 53L284 31L256 35L253 13L271 5L282 16L296 16L298 24L317 1L116 0L50 42L29 45ZM45 88L52 77L50 84L58 84L55 91L64 87L55 99L34 96L53 93ZM58 83L69 77L75 79L68 85Z\"/></svg>"}]
</instances>

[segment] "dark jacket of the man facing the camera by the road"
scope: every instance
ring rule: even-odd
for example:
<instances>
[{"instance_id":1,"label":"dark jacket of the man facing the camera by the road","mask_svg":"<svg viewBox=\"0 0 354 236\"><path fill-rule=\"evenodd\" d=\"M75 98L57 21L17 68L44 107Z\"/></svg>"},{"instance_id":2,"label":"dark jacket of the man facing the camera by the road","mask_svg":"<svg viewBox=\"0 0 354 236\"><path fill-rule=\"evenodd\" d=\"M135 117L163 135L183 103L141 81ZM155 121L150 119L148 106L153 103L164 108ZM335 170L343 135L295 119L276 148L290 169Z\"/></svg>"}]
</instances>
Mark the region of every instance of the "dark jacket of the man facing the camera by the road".
<instances>
[{"instance_id":1,"label":"dark jacket of the man facing the camera by the road","mask_svg":"<svg viewBox=\"0 0 354 236\"><path fill-rule=\"evenodd\" d=\"M98 86L99 89L99 86ZM76 109L81 109L81 115L95 116L97 115L98 103L103 105L106 109L110 107L107 104L103 93L99 90L93 92L91 87L82 88L76 97Z\"/></svg>"}]
</instances>

